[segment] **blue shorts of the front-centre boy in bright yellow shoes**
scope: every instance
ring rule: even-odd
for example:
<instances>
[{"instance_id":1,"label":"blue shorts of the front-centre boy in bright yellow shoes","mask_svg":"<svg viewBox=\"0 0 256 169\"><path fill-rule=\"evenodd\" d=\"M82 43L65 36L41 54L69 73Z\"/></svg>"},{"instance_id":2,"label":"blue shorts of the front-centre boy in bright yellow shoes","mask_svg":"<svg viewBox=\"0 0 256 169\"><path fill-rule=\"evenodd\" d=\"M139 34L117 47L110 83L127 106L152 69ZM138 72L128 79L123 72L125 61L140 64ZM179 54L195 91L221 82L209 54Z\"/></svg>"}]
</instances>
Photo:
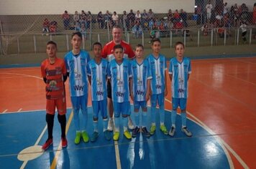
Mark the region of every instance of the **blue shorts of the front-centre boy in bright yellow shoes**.
<instances>
[{"instance_id":1,"label":"blue shorts of the front-centre boy in bright yellow shoes","mask_svg":"<svg viewBox=\"0 0 256 169\"><path fill-rule=\"evenodd\" d=\"M129 102L113 102L114 117L122 115L131 115L131 105Z\"/></svg>"}]
</instances>

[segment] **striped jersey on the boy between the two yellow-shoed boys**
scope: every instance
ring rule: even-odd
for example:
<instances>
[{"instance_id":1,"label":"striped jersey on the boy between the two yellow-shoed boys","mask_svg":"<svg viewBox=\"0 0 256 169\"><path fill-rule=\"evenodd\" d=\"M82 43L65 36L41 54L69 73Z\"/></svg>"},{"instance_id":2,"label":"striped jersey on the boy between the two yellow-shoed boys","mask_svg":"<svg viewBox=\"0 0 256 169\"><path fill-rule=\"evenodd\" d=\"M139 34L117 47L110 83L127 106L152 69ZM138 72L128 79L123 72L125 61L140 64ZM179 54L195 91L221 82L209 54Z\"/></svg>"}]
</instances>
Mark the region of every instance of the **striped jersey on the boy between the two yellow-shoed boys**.
<instances>
[{"instance_id":1,"label":"striped jersey on the boy between the two yellow-shoed boys","mask_svg":"<svg viewBox=\"0 0 256 169\"><path fill-rule=\"evenodd\" d=\"M147 79L152 79L150 72L150 64L147 59L144 59L142 64L138 64L136 59L132 62L132 91L134 100L145 101L147 93Z\"/></svg>"}]
</instances>

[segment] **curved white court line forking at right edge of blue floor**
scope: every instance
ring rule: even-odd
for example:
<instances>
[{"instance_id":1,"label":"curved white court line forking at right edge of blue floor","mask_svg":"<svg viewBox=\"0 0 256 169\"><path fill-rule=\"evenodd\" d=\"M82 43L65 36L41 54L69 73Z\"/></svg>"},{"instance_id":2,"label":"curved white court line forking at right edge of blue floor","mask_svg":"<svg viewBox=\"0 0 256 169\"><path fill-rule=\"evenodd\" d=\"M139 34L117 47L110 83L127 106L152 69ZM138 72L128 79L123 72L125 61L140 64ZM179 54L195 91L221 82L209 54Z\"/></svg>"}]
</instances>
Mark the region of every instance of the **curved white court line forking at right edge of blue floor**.
<instances>
[{"instance_id":1,"label":"curved white court line forking at right edge of blue floor","mask_svg":"<svg viewBox=\"0 0 256 169\"><path fill-rule=\"evenodd\" d=\"M170 100L168 99L165 99L167 102L170 102L172 103ZM170 110L168 110L170 111ZM214 137L216 137L216 140L219 141L219 143L221 143L221 147L224 148L224 152L226 153L227 155L227 158L229 160L229 166L230 168L234 168L234 164L233 164L233 161L232 161L232 158L230 157L229 153L227 152L227 150L229 150L230 153L232 153L232 155L234 155L235 158L237 158L237 160L239 161L239 163L242 165L243 168L249 168L247 166L246 163L244 163L244 160L242 160L242 158L240 158L240 156L226 143L224 142L224 140L221 139L221 137L219 137L213 130L211 130L206 124L204 124L204 122L202 122L201 120L199 120L196 116L192 115L190 112L186 111L188 115L190 115L191 117L193 117L193 119L195 120L192 120L191 118L188 117L189 120L193 121L193 122L196 122L198 125L200 125L201 127L203 127L207 132L209 132L211 135L214 135ZM224 145L224 147L222 146ZM227 148L227 149L226 149Z\"/></svg>"}]
</instances>

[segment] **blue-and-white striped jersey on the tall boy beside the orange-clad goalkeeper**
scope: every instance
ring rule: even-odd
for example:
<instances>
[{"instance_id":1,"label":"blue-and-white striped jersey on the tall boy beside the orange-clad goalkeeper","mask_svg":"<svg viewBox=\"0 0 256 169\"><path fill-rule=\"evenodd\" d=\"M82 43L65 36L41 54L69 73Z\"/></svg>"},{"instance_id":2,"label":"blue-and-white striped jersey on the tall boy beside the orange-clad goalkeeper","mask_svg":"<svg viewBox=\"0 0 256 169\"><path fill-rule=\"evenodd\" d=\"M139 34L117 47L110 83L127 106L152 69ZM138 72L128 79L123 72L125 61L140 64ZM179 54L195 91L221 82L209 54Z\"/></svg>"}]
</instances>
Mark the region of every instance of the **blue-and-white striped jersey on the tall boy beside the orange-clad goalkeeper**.
<instances>
[{"instance_id":1,"label":"blue-and-white striped jersey on the tall boy beside the orange-clad goalkeeper","mask_svg":"<svg viewBox=\"0 0 256 169\"><path fill-rule=\"evenodd\" d=\"M72 51L65 54L65 65L69 72L69 90L71 97L88 95L87 64L90 61L88 52L81 50L74 55Z\"/></svg>"}]
</instances>

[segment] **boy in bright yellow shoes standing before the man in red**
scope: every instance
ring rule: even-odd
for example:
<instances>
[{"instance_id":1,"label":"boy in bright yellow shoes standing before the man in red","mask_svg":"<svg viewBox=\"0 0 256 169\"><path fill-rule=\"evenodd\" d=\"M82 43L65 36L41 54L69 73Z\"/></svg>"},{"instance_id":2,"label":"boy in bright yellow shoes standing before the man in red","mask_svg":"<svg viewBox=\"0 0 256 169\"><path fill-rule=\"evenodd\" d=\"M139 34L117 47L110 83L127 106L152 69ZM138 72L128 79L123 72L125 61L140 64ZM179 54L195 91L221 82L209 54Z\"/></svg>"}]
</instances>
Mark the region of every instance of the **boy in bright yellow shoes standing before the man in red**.
<instances>
[{"instance_id":1,"label":"boy in bright yellow shoes standing before the man in red","mask_svg":"<svg viewBox=\"0 0 256 169\"><path fill-rule=\"evenodd\" d=\"M114 46L114 58L109 62L108 79L111 82L111 95L114 106L114 136L119 140L120 114L123 117L124 136L131 139L132 135L127 129L128 117L131 114L129 102L129 82L132 82L132 71L127 59L123 58L124 49L121 44Z\"/></svg>"}]
</instances>

